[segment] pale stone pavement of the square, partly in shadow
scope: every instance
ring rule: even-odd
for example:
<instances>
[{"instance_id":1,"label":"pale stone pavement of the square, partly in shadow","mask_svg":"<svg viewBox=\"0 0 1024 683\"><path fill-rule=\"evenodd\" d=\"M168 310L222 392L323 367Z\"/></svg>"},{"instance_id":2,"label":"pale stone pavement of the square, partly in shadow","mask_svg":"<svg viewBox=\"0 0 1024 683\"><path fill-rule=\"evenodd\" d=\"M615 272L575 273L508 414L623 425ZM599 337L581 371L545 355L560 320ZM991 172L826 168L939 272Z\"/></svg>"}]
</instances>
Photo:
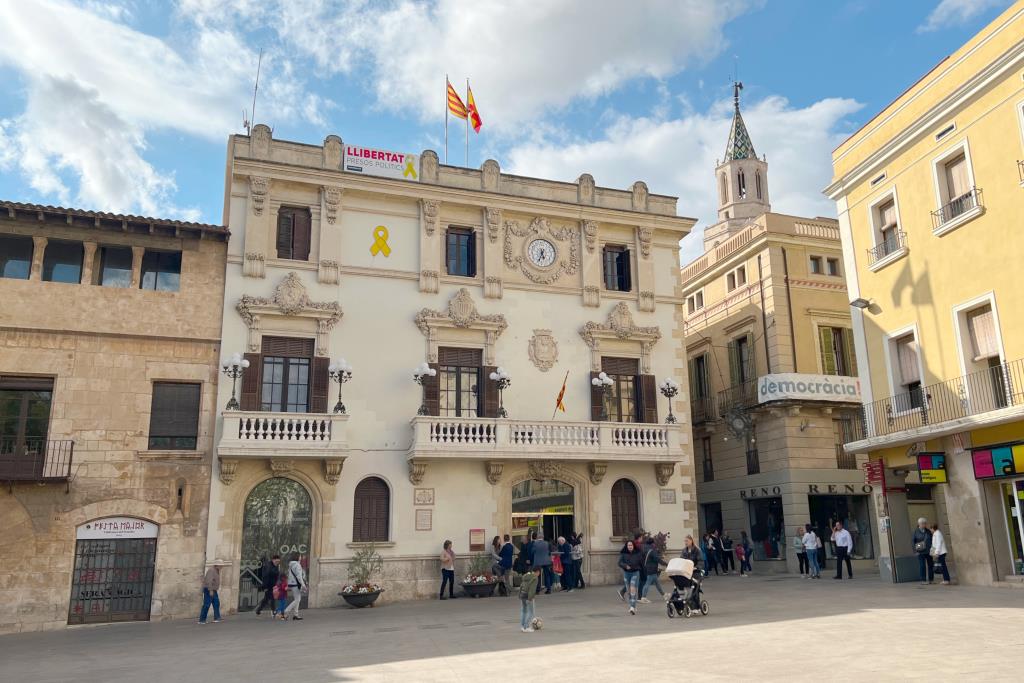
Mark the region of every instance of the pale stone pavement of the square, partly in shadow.
<instances>
[{"instance_id":1,"label":"pale stone pavement of the square, partly in shadow","mask_svg":"<svg viewBox=\"0 0 1024 683\"><path fill-rule=\"evenodd\" d=\"M706 591L708 616L671 621L658 602L630 616L612 587L542 595L534 634L497 597L17 634L0 680L1020 680L1024 590L730 575Z\"/></svg>"}]
</instances>

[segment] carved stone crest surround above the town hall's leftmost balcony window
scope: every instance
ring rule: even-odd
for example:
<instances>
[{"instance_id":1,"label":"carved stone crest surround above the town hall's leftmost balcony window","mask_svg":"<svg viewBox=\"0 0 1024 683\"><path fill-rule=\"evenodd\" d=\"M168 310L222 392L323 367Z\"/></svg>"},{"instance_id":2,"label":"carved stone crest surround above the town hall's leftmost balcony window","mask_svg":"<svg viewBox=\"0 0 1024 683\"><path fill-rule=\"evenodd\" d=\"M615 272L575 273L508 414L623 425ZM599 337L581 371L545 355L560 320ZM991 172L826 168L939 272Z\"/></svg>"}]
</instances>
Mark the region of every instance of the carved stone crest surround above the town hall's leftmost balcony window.
<instances>
[{"instance_id":1,"label":"carved stone crest surround above the town hall's leftmost balcony window","mask_svg":"<svg viewBox=\"0 0 1024 683\"><path fill-rule=\"evenodd\" d=\"M344 314L337 301L310 301L298 273L290 272L281 281L271 297L243 294L236 310L249 328L248 349L259 351L260 321L264 315L308 318L316 327L316 355L328 355L331 330Z\"/></svg>"}]
</instances>

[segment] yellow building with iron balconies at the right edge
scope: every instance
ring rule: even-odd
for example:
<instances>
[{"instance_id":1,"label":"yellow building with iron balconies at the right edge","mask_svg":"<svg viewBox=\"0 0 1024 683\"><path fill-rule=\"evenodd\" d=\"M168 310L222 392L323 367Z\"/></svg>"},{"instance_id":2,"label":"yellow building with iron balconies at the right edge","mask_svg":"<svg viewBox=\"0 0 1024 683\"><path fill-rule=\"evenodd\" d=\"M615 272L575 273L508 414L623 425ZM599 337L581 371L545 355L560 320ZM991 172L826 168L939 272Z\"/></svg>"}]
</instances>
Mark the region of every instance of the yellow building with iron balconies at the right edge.
<instances>
[{"instance_id":1,"label":"yellow building with iron balconies at the right edge","mask_svg":"<svg viewBox=\"0 0 1024 683\"><path fill-rule=\"evenodd\" d=\"M847 451L882 461L883 577L938 520L966 584L1020 581L1024 2L833 154L863 389Z\"/></svg>"}]
</instances>

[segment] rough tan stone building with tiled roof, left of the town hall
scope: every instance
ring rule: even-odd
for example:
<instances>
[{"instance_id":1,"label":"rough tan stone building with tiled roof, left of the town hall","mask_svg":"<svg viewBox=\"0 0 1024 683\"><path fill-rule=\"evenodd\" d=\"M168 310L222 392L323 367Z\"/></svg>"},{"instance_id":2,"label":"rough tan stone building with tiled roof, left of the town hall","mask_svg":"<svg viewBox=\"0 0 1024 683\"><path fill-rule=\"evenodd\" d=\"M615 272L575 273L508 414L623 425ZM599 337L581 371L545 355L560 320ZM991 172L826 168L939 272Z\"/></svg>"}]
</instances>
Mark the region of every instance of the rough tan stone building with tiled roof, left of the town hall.
<instances>
[{"instance_id":1,"label":"rough tan stone building with tiled roof, left of the town hall","mask_svg":"<svg viewBox=\"0 0 1024 683\"><path fill-rule=\"evenodd\" d=\"M226 242L0 203L0 632L198 609Z\"/></svg>"}]
</instances>

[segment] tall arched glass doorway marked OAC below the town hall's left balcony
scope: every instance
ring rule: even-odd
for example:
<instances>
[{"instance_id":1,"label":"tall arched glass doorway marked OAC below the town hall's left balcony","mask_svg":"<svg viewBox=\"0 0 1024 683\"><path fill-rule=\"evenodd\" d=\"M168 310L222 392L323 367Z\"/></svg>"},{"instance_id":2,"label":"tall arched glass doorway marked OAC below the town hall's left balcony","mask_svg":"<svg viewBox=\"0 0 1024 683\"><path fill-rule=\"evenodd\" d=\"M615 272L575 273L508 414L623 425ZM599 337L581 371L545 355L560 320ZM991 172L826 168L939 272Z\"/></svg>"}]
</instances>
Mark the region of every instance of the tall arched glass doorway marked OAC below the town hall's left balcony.
<instances>
[{"instance_id":1,"label":"tall arched glass doorway marked OAC below the town hall's left balcony","mask_svg":"<svg viewBox=\"0 0 1024 683\"><path fill-rule=\"evenodd\" d=\"M259 604L262 595L259 570L264 558L281 555L282 570L286 570L289 555L302 553L302 565L308 577L312 525L312 499L298 481L272 477L253 487L246 499L242 527L239 611L255 609ZM303 597L303 607L306 601Z\"/></svg>"}]
</instances>

